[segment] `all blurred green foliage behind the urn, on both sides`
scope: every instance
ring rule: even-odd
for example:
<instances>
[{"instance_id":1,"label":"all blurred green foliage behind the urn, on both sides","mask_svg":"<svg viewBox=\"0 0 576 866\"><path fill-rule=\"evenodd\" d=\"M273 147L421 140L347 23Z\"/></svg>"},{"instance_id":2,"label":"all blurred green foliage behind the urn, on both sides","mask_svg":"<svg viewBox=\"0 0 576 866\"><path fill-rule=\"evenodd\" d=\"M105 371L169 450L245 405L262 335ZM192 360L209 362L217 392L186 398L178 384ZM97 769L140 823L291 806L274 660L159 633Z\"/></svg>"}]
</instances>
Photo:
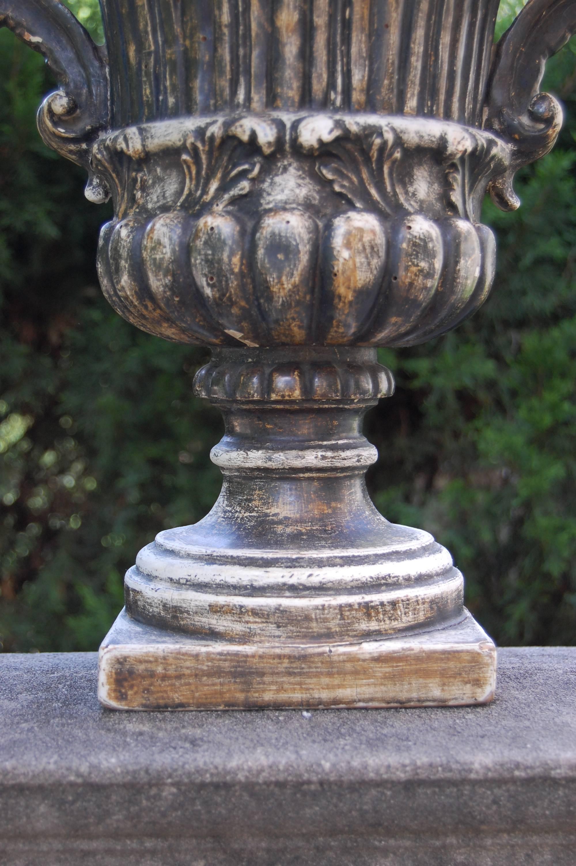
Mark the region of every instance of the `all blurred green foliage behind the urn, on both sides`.
<instances>
[{"instance_id":1,"label":"all blurred green foliage behind the urn, on both sides","mask_svg":"<svg viewBox=\"0 0 576 866\"><path fill-rule=\"evenodd\" d=\"M102 41L96 0L68 0ZM504 3L499 32L521 6ZM42 58L0 31L0 635L6 651L95 650L123 572L201 518L219 416L191 395L205 354L140 333L97 288L85 178L49 152ZM398 390L366 421L391 520L450 547L502 644L576 643L576 44L548 64L566 125L516 183L489 301L456 332L381 351Z\"/></svg>"}]
</instances>

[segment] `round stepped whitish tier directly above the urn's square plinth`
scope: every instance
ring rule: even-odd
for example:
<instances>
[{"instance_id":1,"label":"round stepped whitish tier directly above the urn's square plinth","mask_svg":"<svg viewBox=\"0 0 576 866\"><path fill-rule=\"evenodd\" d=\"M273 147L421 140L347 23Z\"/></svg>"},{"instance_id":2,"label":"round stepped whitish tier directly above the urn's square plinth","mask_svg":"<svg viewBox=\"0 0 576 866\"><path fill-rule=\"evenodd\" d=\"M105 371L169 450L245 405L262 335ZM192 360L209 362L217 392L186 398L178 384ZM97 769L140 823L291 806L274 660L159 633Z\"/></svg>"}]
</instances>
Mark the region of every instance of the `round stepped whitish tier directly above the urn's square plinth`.
<instances>
[{"instance_id":1,"label":"round stepped whitish tier directly above the urn's square plinth","mask_svg":"<svg viewBox=\"0 0 576 866\"><path fill-rule=\"evenodd\" d=\"M385 637L463 618L463 577L429 533L380 518L376 550L194 544L201 528L160 533L126 574L126 610L143 623L231 641ZM200 527L200 525L198 525Z\"/></svg>"}]
</instances>

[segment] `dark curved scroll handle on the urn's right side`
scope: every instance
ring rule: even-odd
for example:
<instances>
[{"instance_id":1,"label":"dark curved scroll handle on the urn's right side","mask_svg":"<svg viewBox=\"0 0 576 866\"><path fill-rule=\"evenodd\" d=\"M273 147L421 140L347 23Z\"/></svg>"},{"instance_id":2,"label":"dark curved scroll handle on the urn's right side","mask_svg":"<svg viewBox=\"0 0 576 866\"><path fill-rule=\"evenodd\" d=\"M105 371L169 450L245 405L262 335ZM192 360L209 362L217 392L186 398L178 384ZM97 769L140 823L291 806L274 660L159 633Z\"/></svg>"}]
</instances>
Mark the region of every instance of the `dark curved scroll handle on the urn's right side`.
<instances>
[{"instance_id":1,"label":"dark curved scroll handle on the urn's right side","mask_svg":"<svg viewBox=\"0 0 576 866\"><path fill-rule=\"evenodd\" d=\"M489 186L502 210L520 200L512 187L515 172L553 148L562 126L562 109L539 92L546 61L576 32L574 0L528 0L495 49L484 109L484 127L513 148L508 171Z\"/></svg>"}]
</instances>

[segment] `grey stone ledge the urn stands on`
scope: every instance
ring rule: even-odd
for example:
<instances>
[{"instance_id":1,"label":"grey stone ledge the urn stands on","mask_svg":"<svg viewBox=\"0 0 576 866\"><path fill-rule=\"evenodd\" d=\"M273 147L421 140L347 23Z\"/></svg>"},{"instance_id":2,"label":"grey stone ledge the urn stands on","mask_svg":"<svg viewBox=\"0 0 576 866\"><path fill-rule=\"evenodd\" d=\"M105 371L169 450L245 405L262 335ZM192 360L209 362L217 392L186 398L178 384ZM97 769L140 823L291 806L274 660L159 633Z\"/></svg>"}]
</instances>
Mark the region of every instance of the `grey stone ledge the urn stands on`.
<instances>
[{"instance_id":1,"label":"grey stone ledge the urn stands on","mask_svg":"<svg viewBox=\"0 0 576 866\"><path fill-rule=\"evenodd\" d=\"M474 708L118 713L0 656L2 866L574 866L576 648Z\"/></svg>"}]
</instances>

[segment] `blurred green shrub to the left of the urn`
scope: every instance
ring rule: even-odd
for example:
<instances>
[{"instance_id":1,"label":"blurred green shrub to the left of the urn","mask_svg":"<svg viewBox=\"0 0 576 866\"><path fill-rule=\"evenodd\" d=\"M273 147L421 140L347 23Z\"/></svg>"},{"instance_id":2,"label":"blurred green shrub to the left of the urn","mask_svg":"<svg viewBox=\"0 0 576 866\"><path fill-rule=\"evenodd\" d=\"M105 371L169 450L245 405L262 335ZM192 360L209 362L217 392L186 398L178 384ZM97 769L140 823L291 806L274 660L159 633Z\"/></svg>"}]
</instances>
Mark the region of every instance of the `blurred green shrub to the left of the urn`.
<instances>
[{"instance_id":1,"label":"blurred green shrub to the left of the urn","mask_svg":"<svg viewBox=\"0 0 576 866\"><path fill-rule=\"evenodd\" d=\"M98 25L94 3L69 5ZM140 333L102 298L96 242L111 210L42 144L36 108L53 86L42 57L0 30L5 650L97 648L139 547L199 520L220 484L208 454L221 420L191 394L207 353Z\"/></svg>"}]
</instances>

